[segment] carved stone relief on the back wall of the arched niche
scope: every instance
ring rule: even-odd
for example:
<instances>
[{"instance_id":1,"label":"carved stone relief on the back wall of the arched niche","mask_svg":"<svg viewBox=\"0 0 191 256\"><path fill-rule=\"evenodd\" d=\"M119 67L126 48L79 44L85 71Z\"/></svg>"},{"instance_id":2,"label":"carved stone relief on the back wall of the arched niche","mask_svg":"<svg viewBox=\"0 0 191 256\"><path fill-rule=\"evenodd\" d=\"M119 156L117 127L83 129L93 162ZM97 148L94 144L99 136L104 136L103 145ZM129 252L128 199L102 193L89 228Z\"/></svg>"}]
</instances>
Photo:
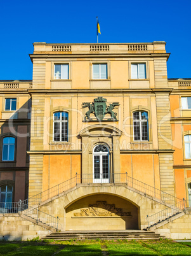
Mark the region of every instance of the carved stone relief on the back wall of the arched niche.
<instances>
[{"instance_id":1,"label":"carved stone relief on the back wall of the arched niche","mask_svg":"<svg viewBox=\"0 0 191 256\"><path fill-rule=\"evenodd\" d=\"M107 216L131 216L131 211L124 212L122 208L115 208L115 204L107 204L106 201L97 201L96 204L89 204L89 208L81 209L80 213L74 213L74 217Z\"/></svg>"}]
</instances>

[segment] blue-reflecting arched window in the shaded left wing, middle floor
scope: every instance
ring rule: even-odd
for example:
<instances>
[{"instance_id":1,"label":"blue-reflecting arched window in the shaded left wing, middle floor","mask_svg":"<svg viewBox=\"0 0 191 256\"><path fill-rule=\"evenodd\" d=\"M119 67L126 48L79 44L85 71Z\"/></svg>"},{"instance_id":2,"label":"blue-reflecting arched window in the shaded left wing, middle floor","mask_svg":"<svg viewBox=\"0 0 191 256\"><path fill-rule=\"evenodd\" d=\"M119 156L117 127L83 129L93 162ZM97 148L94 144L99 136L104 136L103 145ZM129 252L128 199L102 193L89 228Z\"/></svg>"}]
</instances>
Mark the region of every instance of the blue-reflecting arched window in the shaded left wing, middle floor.
<instances>
[{"instance_id":1,"label":"blue-reflecting arched window in the shaded left wing, middle floor","mask_svg":"<svg viewBox=\"0 0 191 256\"><path fill-rule=\"evenodd\" d=\"M14 161L15 159L15 138L3 138L3 161Z\"/></svg>"}]
</instances>

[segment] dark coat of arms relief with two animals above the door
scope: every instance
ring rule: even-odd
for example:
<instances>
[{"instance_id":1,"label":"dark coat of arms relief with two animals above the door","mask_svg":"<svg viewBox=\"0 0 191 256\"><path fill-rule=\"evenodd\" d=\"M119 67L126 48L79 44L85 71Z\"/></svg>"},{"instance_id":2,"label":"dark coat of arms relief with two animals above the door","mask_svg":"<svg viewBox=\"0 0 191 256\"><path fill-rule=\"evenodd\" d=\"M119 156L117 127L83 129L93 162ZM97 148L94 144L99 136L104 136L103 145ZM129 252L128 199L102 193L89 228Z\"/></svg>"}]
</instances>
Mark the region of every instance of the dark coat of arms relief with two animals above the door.
<instances>
[{"instance_id":1,"label":"dark coat of arms relief with two animals above the door","mask_svg":"<svg viewBox=\"0 0 191 256\"><path fill-rule=\"evenodd\" d=\"M92 103L82 103L82 108L89 108L85 113L84 120L92 121L93 119L90 117L91 113L95 115L98 121L102 121L106 114L110 115L110 118L107 118L107 120L117 120L117 113L113 110L119 105L118 102L109 103L109 105L107 105L107 99L103 97L97 97Z\"/></svg>"}]
</instances>

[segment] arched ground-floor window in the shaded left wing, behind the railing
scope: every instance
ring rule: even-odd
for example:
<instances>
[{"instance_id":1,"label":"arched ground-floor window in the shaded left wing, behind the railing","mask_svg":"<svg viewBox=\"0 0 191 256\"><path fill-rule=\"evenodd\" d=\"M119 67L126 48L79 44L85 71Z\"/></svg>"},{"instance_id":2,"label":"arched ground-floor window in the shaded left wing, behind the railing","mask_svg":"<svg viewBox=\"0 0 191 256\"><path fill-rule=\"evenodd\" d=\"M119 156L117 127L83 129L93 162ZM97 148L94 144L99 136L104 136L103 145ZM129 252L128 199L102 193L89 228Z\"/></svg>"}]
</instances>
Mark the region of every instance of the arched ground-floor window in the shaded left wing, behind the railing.
<instances>
[{"instance_id":1,"label":"arched ground-floor window in the shaded left wing, behind the railing","mask_svg":"<svg viewBox=\"0 0 191 256\"><path fill-rule=\"evenodd\" d=\"M1 208L11 209L13 198L13 187L11 185L3 185L0 187Z\"/></svg>"}]
</instances>

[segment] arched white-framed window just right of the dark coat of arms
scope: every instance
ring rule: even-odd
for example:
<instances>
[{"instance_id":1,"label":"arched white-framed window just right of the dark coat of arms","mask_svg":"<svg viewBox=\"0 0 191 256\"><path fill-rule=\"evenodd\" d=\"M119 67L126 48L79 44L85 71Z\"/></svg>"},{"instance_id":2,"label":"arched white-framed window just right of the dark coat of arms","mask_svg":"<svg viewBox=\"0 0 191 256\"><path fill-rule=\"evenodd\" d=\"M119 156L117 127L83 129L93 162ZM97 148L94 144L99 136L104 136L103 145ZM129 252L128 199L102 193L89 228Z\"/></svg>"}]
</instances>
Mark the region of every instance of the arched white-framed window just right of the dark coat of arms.
<instances>
[{"instance_id":1,"label":"arched white-framed window just right of the dark coat of arms","mask_svg":"<svg viewBox=\"0 0 191 256\"><path fill-rule=\"evenodd\" d=\"M133 112L133 139L148 141L148 113L146 111Z\"/></svg>"}]
</instances>

